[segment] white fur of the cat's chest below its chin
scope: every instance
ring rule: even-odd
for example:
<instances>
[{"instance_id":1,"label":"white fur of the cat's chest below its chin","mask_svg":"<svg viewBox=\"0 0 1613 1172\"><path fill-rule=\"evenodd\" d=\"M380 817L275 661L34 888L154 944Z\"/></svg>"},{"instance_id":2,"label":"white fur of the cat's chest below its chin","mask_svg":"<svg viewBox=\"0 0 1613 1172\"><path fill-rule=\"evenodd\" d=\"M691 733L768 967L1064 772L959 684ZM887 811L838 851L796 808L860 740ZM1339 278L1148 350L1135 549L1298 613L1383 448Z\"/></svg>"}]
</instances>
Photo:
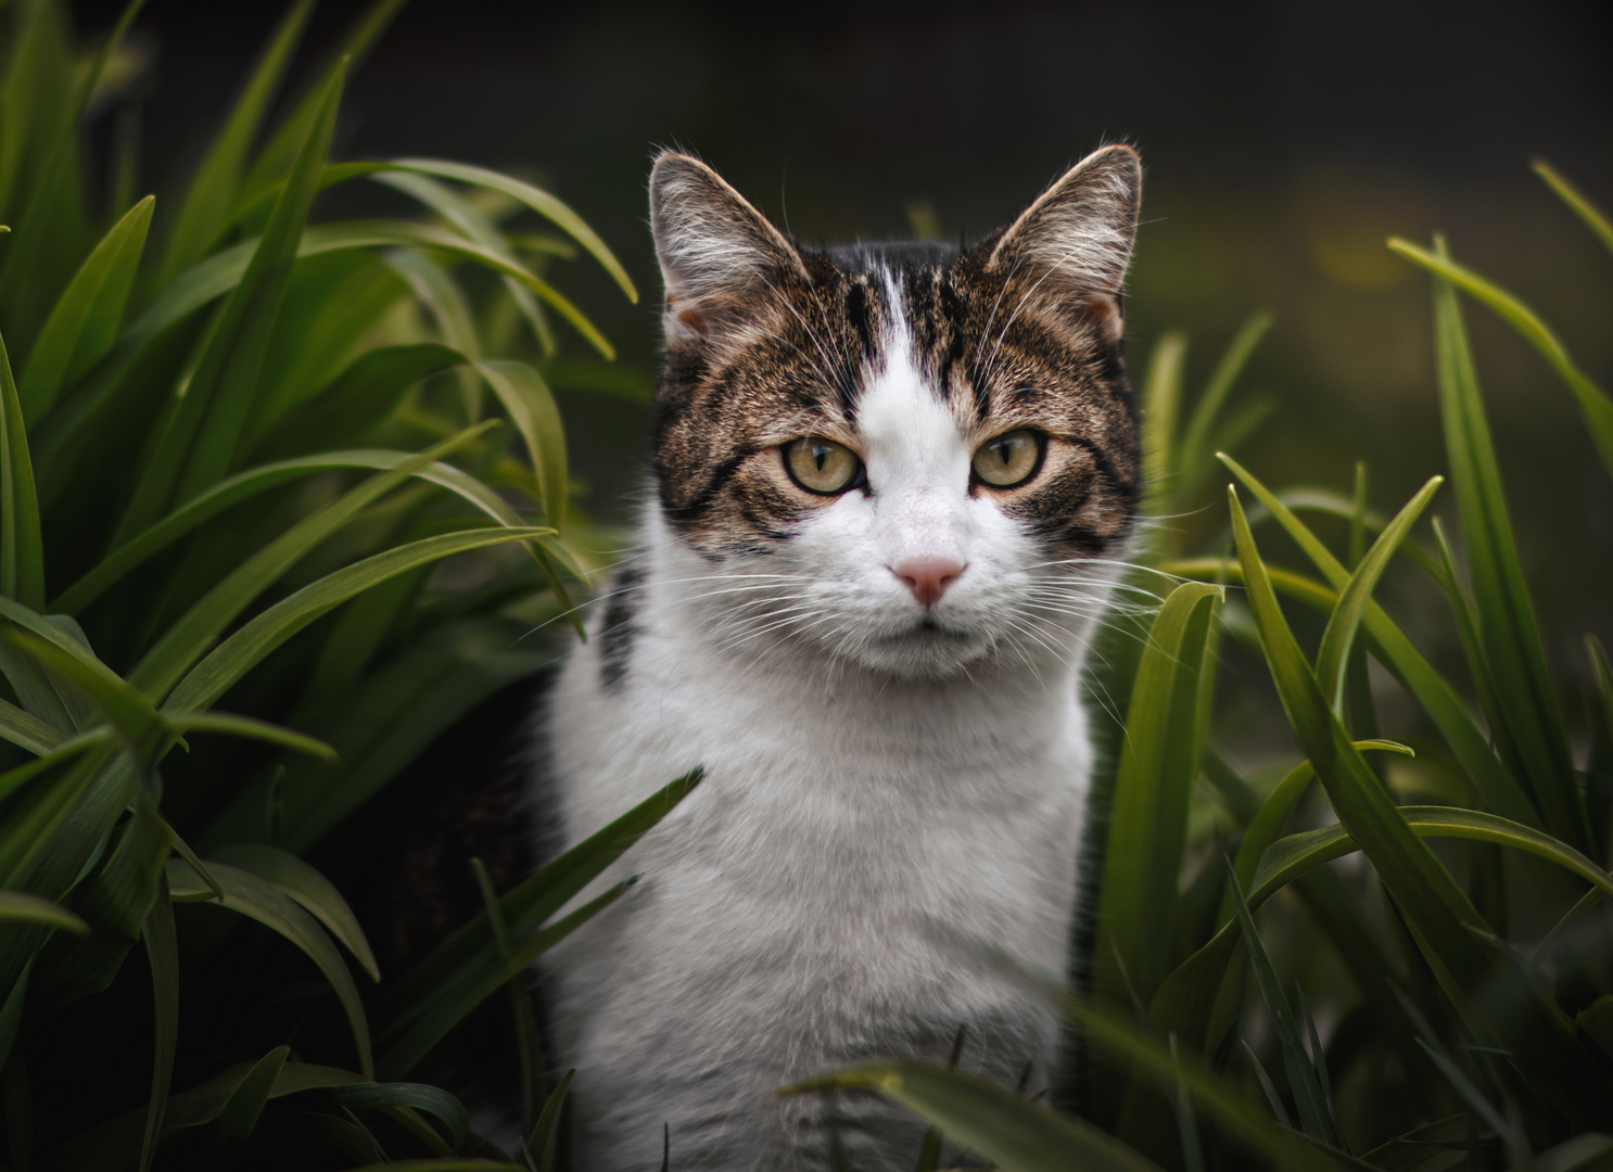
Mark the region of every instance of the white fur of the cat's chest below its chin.
<instances>
[{"instance_id":1,"label":"white fur of the cat's chest below its chin","mask_svg":"<svg viewBox=\"0 0 1613 1172\"><path fill-rule=\"evenodd\" d=\"M1048 1077L1055 1027L960 937L1065 967L1089 772L1076 664L897 682L723 650L676 542L652 527L631 664L600 640L547 713L566 845L673 777L706 777L605 880L644 880L552 953L560 1059L576 1066L582 1167L650 1167L661 1122L689 1167L816 1166L810 1103L773 1087L873 1054ZM748 651L748 650L747 650ZM819 1114L815 1114L819 1112ZM860 1108L866 1111L866 1108ZM879 1114L879 1112L874 1112ZM908 1162L852 1112L848 1154ZM855 1164L863 1167L865 1164Z\"/></svg>"}]
</instances>

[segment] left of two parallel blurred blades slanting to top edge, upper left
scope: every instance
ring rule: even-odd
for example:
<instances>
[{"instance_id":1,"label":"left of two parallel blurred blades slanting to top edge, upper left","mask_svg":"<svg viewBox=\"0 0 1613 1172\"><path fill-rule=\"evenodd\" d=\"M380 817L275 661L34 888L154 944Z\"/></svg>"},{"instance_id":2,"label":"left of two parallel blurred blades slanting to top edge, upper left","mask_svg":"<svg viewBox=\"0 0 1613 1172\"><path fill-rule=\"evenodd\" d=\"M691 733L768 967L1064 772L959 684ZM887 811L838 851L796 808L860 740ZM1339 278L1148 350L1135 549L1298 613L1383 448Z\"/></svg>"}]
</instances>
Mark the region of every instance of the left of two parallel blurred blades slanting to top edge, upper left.
<instances>
[{"instance_id":1,"label":"left of two parallel blurred blades slanting to top edge, upper left","mask_svg":"<svg viewBox=\"0 0 1613 1172\"><path fill-rule=\"evenodd\" d=\"M173 235L168 239L163 263L156 271L155 284L158 289L206 255L229 226L252 140L258 134L258 126L263 123L274 90L279 89L281 76L286 73L292 52L308 24L313 6L315 0L297 0L281 18L279 27L242 87L229 118L202 158L202 164L185 192ZM324 94L321 94L323 97ZM313 121L310 119L310 124Z\"/></svg>"}]
</instances>

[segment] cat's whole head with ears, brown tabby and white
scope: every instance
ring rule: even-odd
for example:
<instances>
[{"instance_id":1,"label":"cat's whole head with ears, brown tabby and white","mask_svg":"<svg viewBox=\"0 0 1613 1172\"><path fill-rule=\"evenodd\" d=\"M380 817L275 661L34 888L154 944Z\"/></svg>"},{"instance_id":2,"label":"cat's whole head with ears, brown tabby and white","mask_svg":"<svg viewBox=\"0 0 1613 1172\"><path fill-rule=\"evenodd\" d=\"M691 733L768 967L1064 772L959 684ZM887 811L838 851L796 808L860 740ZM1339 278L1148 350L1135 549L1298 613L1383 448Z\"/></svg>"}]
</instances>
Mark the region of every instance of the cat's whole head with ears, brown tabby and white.
<instances>
[{"instance_id":1,"label":"cat's whole head with ears, brown tabby and white","mask_svg":"<svg viewBox=\"0 0 1613 1172\"><path fill-rule=\"evenodd\" d=\"M660 497L719 638L908 679L1079 655L1139 490L1139 185L1110 147L974 248L813 251L656 161Z\"/></svg>"}]
</instances>

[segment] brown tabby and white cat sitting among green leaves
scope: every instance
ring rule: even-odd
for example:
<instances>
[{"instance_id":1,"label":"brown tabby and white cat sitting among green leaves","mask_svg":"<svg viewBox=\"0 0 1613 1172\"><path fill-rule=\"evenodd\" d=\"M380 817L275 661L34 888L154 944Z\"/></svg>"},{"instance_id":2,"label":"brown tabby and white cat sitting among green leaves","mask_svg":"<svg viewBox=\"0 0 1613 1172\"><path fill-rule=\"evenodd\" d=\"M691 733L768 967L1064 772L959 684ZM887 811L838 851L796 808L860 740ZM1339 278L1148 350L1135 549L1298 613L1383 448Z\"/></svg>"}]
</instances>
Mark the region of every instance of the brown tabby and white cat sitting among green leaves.
<instances>
[{"instance_id":1,"label":"brown tabby and white cat sitting among green leaves","mask_svg":"<svg viewBox=\"0 0 1613 1172\"><path fill-rule=\"evenodd\" d=\"M808 248L663 153L655 497L537 724L565 845L700 787L545 958L577 1167L913 1167L876 1056L1045 1085L1060 1024L960 940L1066 972L1086 646L1134 532L1137 153L974 247Z\"/></svg>"}]
</instances>

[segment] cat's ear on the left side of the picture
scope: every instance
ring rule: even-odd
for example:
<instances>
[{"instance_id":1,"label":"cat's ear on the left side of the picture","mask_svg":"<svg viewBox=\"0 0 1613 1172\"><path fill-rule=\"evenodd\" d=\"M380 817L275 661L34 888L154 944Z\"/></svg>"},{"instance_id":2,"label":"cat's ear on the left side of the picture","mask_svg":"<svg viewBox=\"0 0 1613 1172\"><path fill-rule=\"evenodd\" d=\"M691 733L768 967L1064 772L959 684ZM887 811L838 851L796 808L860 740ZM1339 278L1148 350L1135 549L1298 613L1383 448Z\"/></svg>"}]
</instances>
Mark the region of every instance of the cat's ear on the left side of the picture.
<instances>
[{"instance_id":1,"label":"cat's ear on the left side of the picture","mask_svg":"<svg viewBox=\"0 0 1613 1172\"><path fill-rule=\"evenodd\" d=\"M689 155L666 152L655 160L650 231L666 282L668 343L708 340L742 322L781 277L806 277L784 234Z\"/></svg>"}]
</instances>

